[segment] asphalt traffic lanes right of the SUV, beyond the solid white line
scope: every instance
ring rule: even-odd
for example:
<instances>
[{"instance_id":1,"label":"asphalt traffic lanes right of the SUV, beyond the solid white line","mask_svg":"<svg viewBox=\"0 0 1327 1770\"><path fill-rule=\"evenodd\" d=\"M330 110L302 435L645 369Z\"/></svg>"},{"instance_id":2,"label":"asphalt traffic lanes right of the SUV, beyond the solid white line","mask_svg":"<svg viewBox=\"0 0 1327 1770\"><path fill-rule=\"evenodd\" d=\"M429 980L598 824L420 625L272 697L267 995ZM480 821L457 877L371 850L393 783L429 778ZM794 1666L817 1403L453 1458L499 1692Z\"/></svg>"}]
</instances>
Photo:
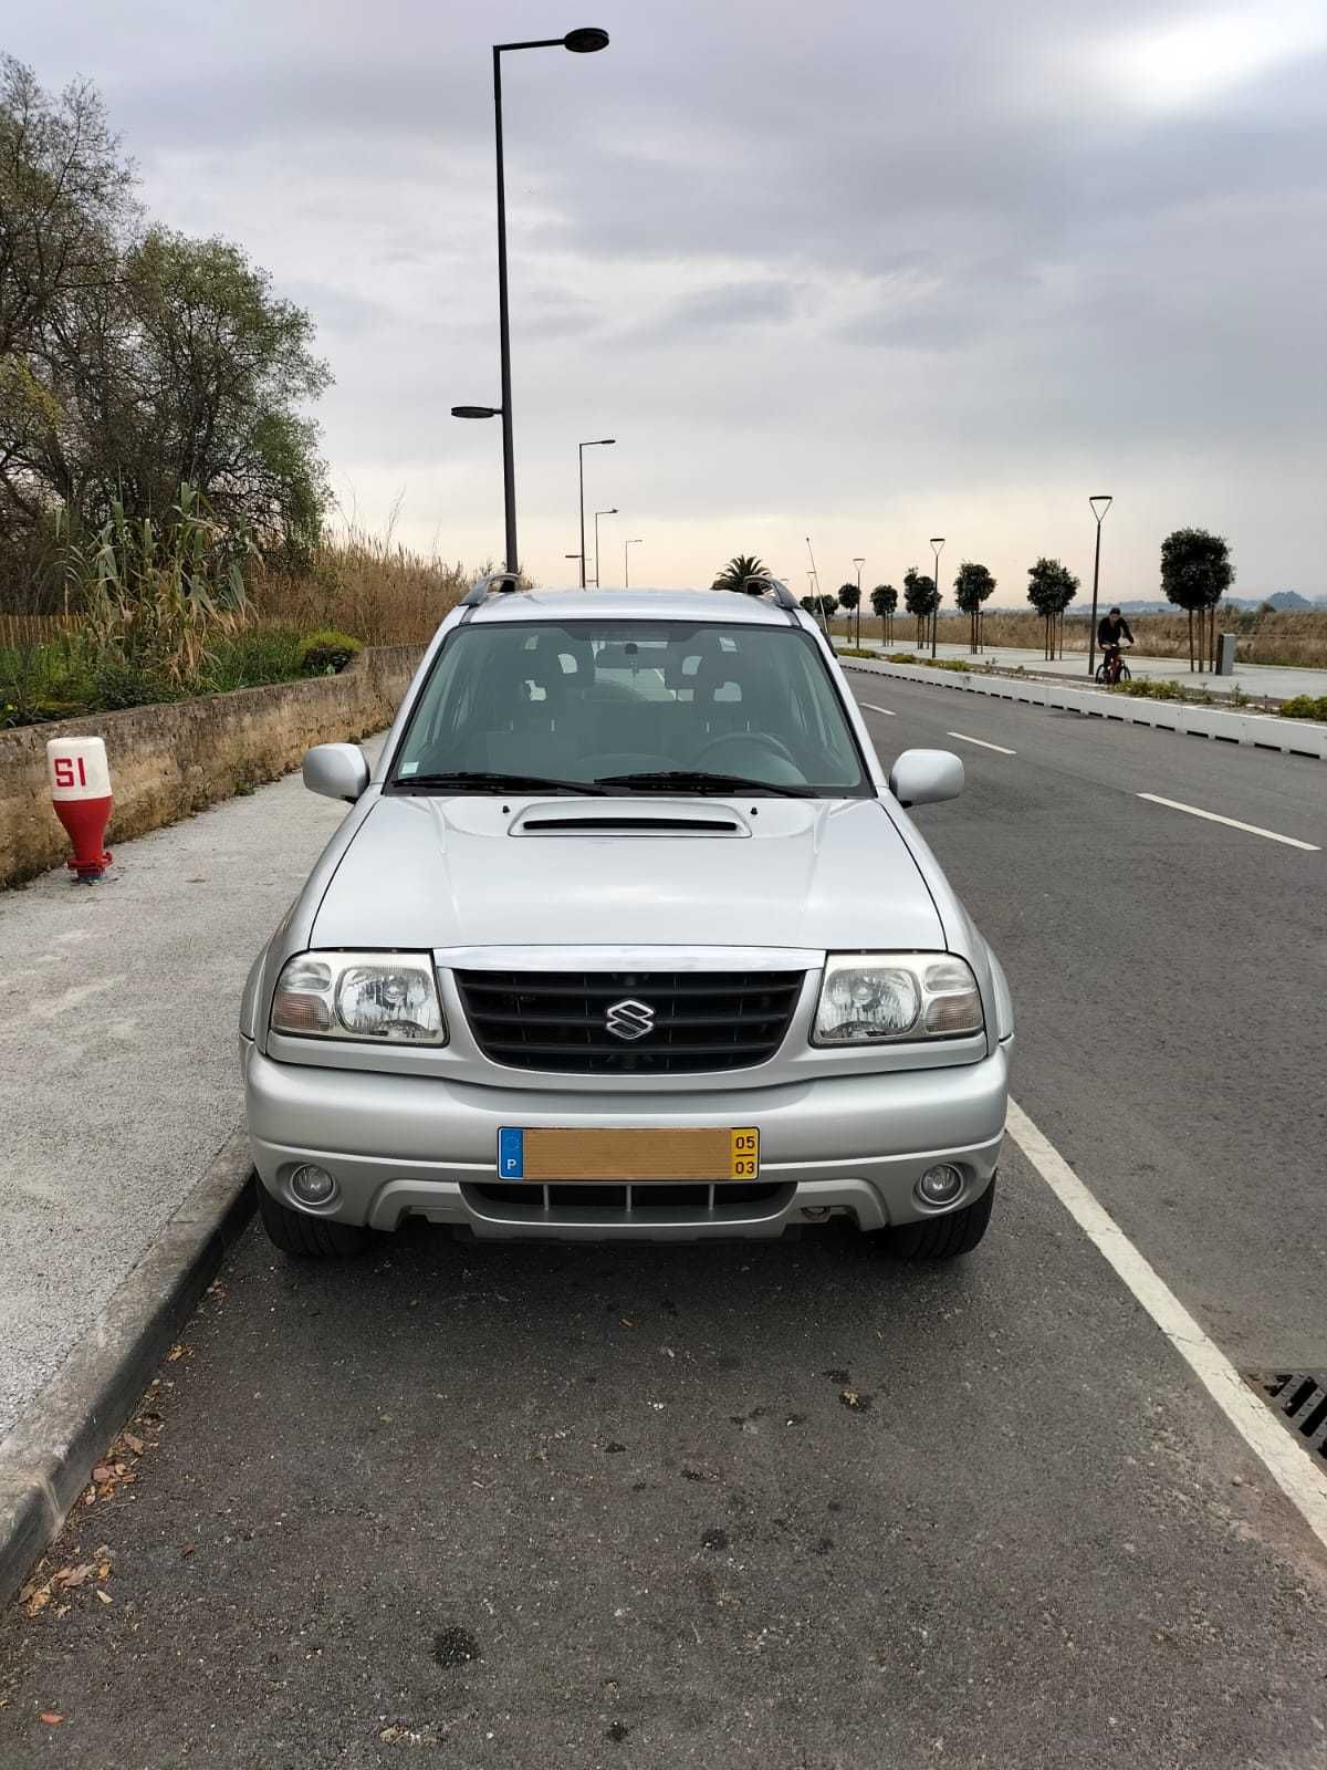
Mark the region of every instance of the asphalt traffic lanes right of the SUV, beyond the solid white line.
<instances>
[{"instance_id":1,"label":"asphalt traffic lanes right of the SUV, beyond the solid white line","mask_svg":"<svg viewBox=\"0 0 1327 1770\"><path fill-rule=\"evenodd\" d=\"M1009 972L1024 1112L1237 1366L1327 1370L1327 768L849 680L883 761L963 756L917 823Z\"/></svg>"}]
</instances>

